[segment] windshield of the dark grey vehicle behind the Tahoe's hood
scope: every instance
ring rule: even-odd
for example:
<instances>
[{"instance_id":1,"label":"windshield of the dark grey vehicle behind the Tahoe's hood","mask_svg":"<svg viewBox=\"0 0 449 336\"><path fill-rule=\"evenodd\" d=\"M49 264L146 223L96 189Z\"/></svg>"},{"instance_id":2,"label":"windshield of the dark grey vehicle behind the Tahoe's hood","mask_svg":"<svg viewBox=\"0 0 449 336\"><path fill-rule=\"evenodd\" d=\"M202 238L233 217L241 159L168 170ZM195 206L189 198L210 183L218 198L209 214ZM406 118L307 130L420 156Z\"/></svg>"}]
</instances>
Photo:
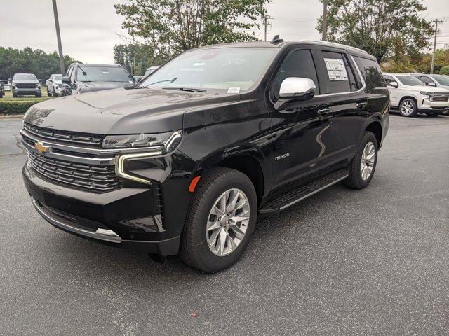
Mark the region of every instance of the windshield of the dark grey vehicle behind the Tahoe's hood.
<instances>
[{"instance_id":1,"label":"windshield of the dark grey vehicle behind the Tahoe's hood","mask_svg":"<svg viewBox=\"0 0 449 336\"><path fill-rule=\"evenodd\" d=\"M117 66L79 66L76 79L81 82L129 82L133 76L124 68Z\"/></svg>"}]
</instances>

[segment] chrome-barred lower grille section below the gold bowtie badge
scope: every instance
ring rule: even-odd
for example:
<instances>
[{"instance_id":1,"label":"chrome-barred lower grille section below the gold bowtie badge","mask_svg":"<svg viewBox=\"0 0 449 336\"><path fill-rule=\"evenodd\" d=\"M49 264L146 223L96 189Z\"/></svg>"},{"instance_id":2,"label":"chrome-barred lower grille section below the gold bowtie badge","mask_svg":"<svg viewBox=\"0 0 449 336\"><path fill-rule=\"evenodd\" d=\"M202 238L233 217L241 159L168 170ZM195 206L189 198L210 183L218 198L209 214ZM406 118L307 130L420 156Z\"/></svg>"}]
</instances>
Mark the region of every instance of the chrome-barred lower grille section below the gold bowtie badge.
<instances>
[{"instance_id":1,"label":"chrome-barred lower grille section below the gold bowtie badge","mask_svg":"<svg viewBox=\"0 0 449 336\"><path fill-rule=\"evenodd\" d=\"M65 160L46 158L28 151L29 165L47 179L98 191L119 188L120 181L114 172L114 166L85 165Z\"/></svg>"}]
</instances>

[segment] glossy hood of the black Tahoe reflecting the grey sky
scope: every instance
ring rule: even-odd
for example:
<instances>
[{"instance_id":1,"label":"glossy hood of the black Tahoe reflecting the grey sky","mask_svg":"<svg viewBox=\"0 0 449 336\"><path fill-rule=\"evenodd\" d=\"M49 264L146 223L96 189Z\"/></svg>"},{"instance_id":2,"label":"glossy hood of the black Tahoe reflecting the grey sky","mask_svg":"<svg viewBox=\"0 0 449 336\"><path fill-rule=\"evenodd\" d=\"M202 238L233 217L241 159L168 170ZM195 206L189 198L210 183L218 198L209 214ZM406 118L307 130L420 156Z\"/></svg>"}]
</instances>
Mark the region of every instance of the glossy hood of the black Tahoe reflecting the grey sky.
<instances>
[{"instance_id":1,"label":"glossy hood of the black Tahoe reflecting the grey sky","mask_svg":"<svg viewBox=\"0 0 449 336\"><path fill-rule=\"evenodd\" d=\"M239 99L240 94L116 89L41 102L27 111L24 120L39 127L95 134L168 132L182 129L188 110Z\"/></svg>"}]
</instances>

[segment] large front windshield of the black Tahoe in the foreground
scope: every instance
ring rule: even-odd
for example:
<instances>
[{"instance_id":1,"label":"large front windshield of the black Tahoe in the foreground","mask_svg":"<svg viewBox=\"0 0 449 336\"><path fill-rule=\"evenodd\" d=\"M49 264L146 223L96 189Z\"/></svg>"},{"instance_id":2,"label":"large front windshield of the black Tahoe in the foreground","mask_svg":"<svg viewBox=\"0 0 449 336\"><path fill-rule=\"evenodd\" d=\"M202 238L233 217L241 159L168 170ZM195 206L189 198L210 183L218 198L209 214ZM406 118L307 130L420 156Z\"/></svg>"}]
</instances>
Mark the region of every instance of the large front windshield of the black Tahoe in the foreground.
<instances>
[{"instance_id":1,"label":"large front windshield of the black Tahoe in the foreground","mask_svg":"<svg viewBox=\"0 0 449 336\"><path fill-rule=\"evenodd\" d=\"M149 76L141 87L248 90L275 54L267 48L216 48L185 52Z\"/></svg>"}]
</instances>

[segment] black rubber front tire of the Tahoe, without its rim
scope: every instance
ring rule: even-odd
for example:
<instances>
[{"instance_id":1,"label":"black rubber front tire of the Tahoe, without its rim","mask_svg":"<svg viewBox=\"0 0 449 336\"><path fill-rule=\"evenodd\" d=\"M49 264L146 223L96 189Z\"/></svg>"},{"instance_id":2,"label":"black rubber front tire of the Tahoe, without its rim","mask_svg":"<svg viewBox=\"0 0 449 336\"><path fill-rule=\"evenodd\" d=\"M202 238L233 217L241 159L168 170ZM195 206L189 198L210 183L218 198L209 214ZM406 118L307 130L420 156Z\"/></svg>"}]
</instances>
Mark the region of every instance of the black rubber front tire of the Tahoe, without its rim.
<instances>
[{"instance_id":1,"label":"black rubber front tire of the Tahoe, without its rim","mask_svg":"<svg viewBox=\"0 0 449 336\"><path fill-rule=\"evenodd\" d=\"M239 188L250 205L250 219L240 244L228 255L215 255L206 240L206 225L210 210L222 193ZM253 183L245 174L229 168L217 167L201 176L187 211L187 222L181 236L180 258L203 272L219 272L233 265L248 246L257 221L257 195Z\"/></svg>"}]
</instances>

